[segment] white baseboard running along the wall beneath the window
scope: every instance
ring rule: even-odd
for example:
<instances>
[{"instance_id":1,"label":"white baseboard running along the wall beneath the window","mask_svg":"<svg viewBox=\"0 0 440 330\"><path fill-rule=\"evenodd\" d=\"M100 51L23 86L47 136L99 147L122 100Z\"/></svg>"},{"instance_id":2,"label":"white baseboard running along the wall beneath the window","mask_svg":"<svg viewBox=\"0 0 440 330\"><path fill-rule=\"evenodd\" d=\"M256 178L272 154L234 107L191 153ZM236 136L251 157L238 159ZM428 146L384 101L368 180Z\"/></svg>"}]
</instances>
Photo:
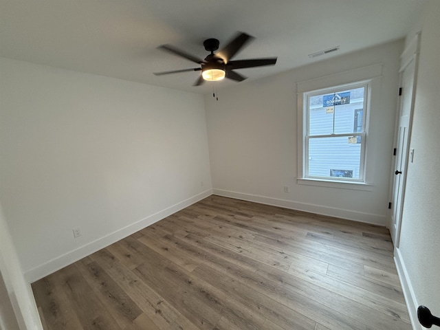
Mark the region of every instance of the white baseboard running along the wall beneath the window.
<instances>
[{"instance_id":1,"label":"white baseboard running along the wall beneath the window","mask_svg":"<svg viewBox=\"0 0 440 330\"><path fill-rule=\"evenodd\" d=\"M212 194L223 197L231 197L235 199L243 199L244 201L254 201L256 203L262 203L272 206L280 206L281 208L289 208L292 210L311 212L315 214L327 215L330 217L338 217L341 219L348 219L364 223L371 223L374 225L386 226L386 217L379 214L356 212L353 210L342 210L340 208L331 208L329 206L301 203L298 201L287 201L285 199L251 195L230 190L212 189Z\"/></svg>"}]
</instances>

